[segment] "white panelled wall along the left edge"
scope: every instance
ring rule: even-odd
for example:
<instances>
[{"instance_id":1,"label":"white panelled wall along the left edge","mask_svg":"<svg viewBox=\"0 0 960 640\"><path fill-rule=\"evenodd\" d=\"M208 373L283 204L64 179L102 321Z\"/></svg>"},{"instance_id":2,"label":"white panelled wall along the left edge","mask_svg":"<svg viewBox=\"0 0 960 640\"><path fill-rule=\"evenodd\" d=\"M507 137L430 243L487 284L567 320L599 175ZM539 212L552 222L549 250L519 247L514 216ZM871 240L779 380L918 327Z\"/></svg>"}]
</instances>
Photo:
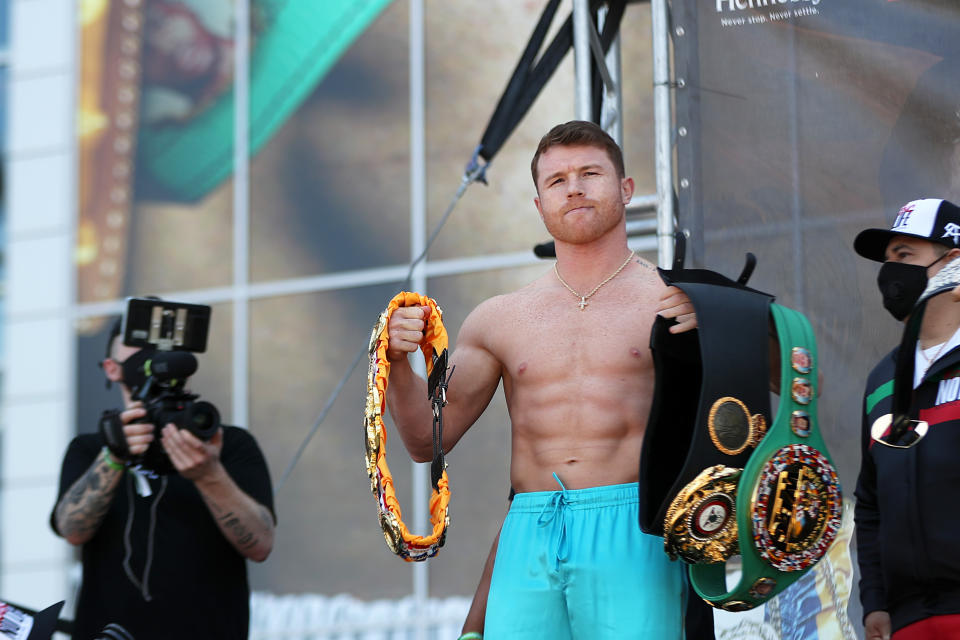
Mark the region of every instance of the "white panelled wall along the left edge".
<instances>
[{"instance_id":1,"label":"white panelled wall along the left edge","mask_svg":"<svg viewBox=\"0 0 960 640\"><path fill-rule=\"evenodd\" d=\"M37 609L68 597L73 558L48 521L74 432L76 4L10 3L0 598Z\"/></svg>"}]
</instances>

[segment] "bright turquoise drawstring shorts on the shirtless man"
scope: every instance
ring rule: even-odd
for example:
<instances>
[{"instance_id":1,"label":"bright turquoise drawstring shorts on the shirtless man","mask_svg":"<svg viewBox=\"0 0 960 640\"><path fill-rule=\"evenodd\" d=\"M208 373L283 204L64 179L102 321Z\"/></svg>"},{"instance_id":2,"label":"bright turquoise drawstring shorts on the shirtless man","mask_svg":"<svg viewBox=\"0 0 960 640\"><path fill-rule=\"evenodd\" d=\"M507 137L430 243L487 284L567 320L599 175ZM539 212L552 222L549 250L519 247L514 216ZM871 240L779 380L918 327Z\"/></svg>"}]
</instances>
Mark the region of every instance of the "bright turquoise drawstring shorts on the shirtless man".
<instances>
[{"instance_id":1,"label":"bright turquoise drawstring shorts on the shirtless man","mask_svg":"<svg viewBox=\"0 0 960 640\"><path fill-rule=\"evenodd\" d=\"M500 532L484 638L682 640L685 566L640 530L635 482L518 493Z\"/></svg>"}]
</instances>

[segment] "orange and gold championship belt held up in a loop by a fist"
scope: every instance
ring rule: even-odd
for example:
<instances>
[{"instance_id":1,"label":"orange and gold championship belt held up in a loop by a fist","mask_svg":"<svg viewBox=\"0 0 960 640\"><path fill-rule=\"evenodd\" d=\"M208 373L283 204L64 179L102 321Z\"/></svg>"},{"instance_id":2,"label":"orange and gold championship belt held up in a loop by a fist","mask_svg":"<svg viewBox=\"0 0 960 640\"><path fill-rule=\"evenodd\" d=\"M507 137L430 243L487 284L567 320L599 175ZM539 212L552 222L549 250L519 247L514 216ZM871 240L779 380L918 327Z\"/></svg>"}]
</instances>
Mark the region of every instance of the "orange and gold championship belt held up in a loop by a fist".
<instances>
[{"instance_id":1,"label":"orange and gold championship belt held up in a loop by a fist","mask_svg":"<svg viewBox=\"0 0 960 640\"><path fill-rule=\"evenodd\" d=\"M387 324L399 307L429 307L421 345L427 364L427 390L433 408L433 462L431 464L430 522L433 532L428 536L410 533L404 524L394 489L393 476L387 466L387 432L383 424L386 409L387 379L390 362L387 360L389 338ZM417 293L397 294L380 314L370 336L370 367L367 371L367 402L364 412L367 475L370 489L377 498L380 527L390 550L407 562L432 558L443 546L450 525L450 482L447 478L443 453L443 406L447 397L447 331L443 327L443 312L437 303Z\"/></svg>"}]
</instances>

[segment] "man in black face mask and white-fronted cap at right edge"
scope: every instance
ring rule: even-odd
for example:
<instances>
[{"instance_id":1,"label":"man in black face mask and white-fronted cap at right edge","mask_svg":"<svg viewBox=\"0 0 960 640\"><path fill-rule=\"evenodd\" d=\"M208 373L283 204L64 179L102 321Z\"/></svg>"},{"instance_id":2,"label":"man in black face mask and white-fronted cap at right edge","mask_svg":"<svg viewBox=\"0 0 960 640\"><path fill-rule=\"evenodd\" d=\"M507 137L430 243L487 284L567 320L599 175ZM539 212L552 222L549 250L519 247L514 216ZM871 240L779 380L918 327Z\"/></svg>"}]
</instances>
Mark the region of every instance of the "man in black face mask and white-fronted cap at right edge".
<instances>
[{"instance_id":1,"label":"man in black face mask and white-fronted cap at right edge","mask_svg":"<svg viewBox=\"0 0 960 640\"><path fill-rule=\"evenodd\" d=\"M960 256L960 208L910 202L890 229L862 231L854 249L883 263L883 306L906 321L928 279ZM930 298L915 352L894 349L867 380L855 512L866 640L960 639L957 293ZM898 358L914 358L914 422L895 437L883 418L892 413Z\"/></svg>"}]
</instances>

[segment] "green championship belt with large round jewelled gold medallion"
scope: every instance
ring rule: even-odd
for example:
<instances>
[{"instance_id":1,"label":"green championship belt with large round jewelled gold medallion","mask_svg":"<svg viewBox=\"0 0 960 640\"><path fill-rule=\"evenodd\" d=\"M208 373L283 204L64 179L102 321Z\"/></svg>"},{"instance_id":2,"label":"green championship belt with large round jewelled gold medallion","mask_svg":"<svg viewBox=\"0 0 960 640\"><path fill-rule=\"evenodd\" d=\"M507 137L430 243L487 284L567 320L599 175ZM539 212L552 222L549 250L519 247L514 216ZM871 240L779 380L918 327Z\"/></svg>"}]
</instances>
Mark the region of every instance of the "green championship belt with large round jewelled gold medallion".
<instances>
[{"instance_id":1,"label":"green championship belt with large round jewelled gold medallion","mask_svg":"<svg viewBox=\"0 0 960 640\"><path fill-rule=\"evenodd\" d=\"M780 404L737 482L740 581L727 589L725 563L690 565L700 597L727 611L763 604L813 567L837 537L843 511L817 425L813 329L793 309L774 304L770 313L780 341Z\"/></svg>"}]
</instances>

